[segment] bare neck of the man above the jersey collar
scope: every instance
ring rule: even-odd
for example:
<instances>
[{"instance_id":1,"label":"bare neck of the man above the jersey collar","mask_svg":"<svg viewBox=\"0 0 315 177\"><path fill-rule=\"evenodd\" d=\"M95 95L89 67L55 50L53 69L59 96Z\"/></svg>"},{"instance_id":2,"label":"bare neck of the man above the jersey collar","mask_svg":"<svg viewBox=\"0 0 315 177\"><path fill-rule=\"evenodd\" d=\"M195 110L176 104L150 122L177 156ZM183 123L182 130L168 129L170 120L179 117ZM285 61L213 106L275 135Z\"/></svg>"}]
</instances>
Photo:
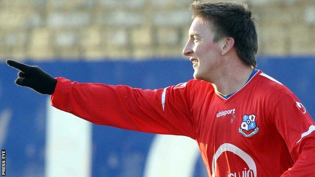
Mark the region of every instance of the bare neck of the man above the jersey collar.
<instances>
[{"instance_id":1,"label":"bare neck of the man above the jersey collar","mask_svg":"<svg viewBox=\"0 0 315 177\"><path fill-rule=\"evenodd\" d=\"M222 95L232 94L241 89L247 82L253 69L243 64L229 65L224 71L220 72L220 77L213 80L212 85L215 91Z\"/></svg>"}]
</instances>

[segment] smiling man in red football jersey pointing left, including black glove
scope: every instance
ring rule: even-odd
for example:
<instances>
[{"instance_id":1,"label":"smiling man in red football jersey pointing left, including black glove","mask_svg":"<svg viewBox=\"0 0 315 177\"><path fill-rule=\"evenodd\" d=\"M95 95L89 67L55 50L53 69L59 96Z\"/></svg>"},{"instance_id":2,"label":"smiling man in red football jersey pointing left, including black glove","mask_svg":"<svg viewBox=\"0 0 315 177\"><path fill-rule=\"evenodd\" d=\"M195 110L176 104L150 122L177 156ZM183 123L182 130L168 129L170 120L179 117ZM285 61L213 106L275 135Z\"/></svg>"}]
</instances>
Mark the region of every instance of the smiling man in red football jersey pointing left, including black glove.
<instances>
[{"instance_id":1,"label":"smiling man in red football jersey pointing left, including black glove","mask_svg":"<svg viewBox=\"0 0 315 177\"><path fill-rule=\"evenodd\" d=\"M251 11L194 2L183 50L194 78L164 89L77 83L7 61L16 83L95 124L184 135L198 143L209 176L314 176L315 124L282 83L256 70Z\"/></svg>"}]
</instances>

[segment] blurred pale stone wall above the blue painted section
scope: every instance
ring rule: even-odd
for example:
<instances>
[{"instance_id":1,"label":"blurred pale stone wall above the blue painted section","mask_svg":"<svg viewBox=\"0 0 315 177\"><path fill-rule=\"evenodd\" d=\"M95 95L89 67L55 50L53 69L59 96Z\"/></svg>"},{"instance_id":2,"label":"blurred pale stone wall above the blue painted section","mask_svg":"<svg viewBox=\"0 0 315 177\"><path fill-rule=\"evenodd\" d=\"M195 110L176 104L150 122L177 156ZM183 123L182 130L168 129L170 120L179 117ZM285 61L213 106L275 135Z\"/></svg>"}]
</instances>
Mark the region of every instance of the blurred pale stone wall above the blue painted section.
<instances>
[{"instance_id":1,"label":"blurred pale stone wall above the blue painted section","mask_svg":"<svg viewBox=\"0 0 315 177\"><path fill-rule=\"evenodd\" d=\"M34 61L182 57L191 2L1 0L0 57ZM313 0L242 2L259 17L259 54L315 54Z\"/></svg>"}]
</instances>

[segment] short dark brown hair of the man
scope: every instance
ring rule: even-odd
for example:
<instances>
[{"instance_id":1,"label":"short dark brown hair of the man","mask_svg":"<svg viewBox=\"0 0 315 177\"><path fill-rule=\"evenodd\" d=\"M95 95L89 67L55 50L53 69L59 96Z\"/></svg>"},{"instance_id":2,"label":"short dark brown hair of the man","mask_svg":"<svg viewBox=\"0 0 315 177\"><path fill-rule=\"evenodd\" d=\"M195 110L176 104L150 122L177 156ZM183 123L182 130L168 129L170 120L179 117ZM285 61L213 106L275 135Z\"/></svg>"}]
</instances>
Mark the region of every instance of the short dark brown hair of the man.
<instances>
[{"instance_id":1,"label":"short dark brown hair of the man","mask_svg":"<svg viewBox=\"0 0 315 177\"><path fill-rule=\"evenodd\" d=\"M256 67L255 55L258 50L256 24L247 4L193 2L190 9L193 12L193 19L198 17L212 24L215 42L223 37L232 37L241 60L246 65Z\"/></svg>"}]
</instances>

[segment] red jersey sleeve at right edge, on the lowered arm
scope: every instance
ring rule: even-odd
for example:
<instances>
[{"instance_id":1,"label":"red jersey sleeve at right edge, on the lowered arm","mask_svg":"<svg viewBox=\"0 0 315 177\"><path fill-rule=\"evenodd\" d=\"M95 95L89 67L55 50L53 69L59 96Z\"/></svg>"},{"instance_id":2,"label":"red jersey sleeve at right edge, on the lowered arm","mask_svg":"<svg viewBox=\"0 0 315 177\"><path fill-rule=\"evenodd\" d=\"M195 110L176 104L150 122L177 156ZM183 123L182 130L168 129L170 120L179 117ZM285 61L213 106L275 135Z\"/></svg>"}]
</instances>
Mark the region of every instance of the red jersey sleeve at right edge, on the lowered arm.
<instances>
[{"instance_id":1,"label":"red jersey sleeve at right edge, on the lowered arm","mask_svg":"<svg viewBox=\"0 0 315 177\"><path fill-rule=\"evenodd\" d=\"M275 108L275 125L283 137L294 165L281 176L315 174L315 124L300 100L285 94Z\"/></svg>"}]
</instances>

